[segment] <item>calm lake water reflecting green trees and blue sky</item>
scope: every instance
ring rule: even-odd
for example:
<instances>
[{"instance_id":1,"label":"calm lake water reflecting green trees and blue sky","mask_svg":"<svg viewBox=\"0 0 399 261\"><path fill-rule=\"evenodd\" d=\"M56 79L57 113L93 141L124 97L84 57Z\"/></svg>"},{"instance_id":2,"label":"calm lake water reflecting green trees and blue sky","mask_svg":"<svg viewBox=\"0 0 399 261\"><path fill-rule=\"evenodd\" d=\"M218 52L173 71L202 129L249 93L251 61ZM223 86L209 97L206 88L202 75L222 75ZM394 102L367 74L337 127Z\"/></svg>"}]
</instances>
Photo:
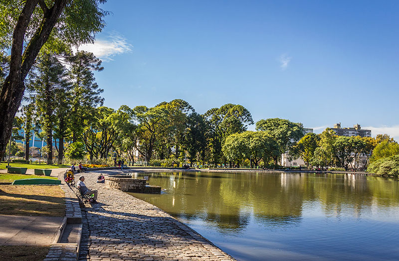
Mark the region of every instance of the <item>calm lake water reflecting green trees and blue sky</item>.
<instances>
[{"instance_id":1,"label":"calm lake water reflecting green trees and blue sky","mask_svg":"<svg viewBox=\"0 0 399 261\"><path fill-rule=\"evenodd\" d=\"M399 182L353 174L159 172L132 193L237 260L399 260Z\"/></svg>"}]
</instances>

